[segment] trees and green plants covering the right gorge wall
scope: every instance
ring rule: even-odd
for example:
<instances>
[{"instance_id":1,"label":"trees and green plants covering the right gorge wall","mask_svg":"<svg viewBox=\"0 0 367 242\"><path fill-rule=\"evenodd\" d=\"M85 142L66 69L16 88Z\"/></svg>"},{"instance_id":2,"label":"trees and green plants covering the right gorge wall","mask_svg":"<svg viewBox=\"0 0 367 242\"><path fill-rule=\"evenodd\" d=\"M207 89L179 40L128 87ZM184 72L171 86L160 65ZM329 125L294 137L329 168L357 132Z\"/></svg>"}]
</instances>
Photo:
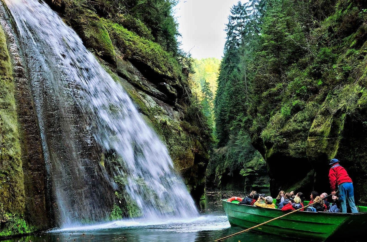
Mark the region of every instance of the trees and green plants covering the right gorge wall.
<instances>
[{"instance_id":1,"label":"trees and green plants covering the right gorge wall","mask_svg":"<svg viewBox=\"0 0 367 242\"><path fill-rule=\"evenodd\" d=\"M316 149L317 155L323 148L335 154L328 137L339 137L348 115L364 105L357 103L367 83L365 7L356 0L262 3L258 15L250 2L245 12L235 5L229 16L214 102L218 150L230 154L237 146L229 144L241 130L269 167L279 157L308 159ZM252 28L259 34L249 26L241 29L243 21L255 18ZM306 143L313 142L310 129L320 144L306 153ZM241 174L247 174L245 168Z\"/></svg>"}]
</instances>

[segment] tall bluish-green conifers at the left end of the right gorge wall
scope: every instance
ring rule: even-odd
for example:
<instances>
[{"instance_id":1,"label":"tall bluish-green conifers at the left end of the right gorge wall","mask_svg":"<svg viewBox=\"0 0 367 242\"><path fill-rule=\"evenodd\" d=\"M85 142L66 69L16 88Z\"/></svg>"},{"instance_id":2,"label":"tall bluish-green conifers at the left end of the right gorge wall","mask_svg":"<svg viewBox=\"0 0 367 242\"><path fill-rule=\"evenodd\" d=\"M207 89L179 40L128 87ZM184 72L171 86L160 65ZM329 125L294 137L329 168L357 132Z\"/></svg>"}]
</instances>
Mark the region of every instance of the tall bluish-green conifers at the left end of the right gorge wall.
<instances>
[{"instance_id":1,"label":"tall bluish-green conifers at the left end of the right gorge wall","mask_svg":"<svg viewBox=\"0 0 367 242\"><path fill-rule=\"evenodd\" d=\"M219 179L219 187L223 188L226 180L239 176L241 171L246 179L250 179L256 172L266 176L265 161L251 144L247 115L252 101L252 51L257 48L261 38L259 27L263 7L257 0L245 4L238 2L231 8L228 17L225 55L220 66L214 100L218 144L207 171L207 179L215 174L215 179ZM254 157L259 158L261 165L251 163ZM248 183L250 182L253 181L250 179ZM245 188L250 189L251 186L249 188L245 184Z\"/></svg>"}]
</instances>

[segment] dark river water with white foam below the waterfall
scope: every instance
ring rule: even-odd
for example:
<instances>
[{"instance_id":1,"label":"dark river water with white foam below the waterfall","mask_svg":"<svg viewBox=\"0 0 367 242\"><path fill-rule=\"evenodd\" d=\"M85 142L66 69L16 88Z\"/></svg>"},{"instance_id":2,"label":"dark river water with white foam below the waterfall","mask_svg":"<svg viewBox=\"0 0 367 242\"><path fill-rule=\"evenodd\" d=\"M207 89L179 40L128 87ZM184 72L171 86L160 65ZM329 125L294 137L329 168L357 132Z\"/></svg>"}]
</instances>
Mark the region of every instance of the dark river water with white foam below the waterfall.
<instances>
[{"instance_id":1,"label":"dark river water with white foam below the waterfall","mask_svg":"<svg viewBox=\"0 0 367 242\"><path fill-rule=\"evenodd\" d=\"M207 191L207 199L200 202L200 216L195 219L170 219L165 221L121 220L86 227L51 231L38 235L28 235L7 239L2 242L101 242L101 241L136 241L136 242L208 242L243 230L230 227L225 216L221 198L243 197L244 192ZM226 242L239 241L301 241L275 235L246 232Z\"/></svg>"}]
</instances>

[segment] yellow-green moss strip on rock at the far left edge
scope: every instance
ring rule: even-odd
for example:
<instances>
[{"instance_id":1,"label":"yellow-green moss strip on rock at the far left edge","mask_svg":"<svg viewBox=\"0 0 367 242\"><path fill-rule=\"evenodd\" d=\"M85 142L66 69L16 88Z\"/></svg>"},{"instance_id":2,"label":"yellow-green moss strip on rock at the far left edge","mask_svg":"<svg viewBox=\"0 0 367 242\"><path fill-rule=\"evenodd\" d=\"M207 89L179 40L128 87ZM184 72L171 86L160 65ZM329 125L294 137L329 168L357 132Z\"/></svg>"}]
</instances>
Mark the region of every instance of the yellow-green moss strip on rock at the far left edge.
<instances>
[{"instance_id":1,"label":"yellow-green moss strip on rock at the far left edge","mask_svg":"<svg viewBox=\"0 0 367 242\"><path fill-rule=\"evenodd\" d=\"M6 213L23 214L25 195L14 92L10 56L0 27L0 194ZM10 219L13 221L15 215Z\"/></svg>"}]
</instances>

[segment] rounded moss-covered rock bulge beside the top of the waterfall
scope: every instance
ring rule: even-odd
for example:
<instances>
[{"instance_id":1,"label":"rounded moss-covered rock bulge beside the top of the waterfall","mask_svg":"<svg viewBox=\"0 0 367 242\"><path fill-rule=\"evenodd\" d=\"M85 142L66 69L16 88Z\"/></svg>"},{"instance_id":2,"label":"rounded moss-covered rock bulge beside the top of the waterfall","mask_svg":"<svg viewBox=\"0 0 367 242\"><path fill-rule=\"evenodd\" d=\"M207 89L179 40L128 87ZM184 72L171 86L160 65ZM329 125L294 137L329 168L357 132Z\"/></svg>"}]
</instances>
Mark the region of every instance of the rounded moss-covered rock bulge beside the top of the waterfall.
<instances>
[{"instance_id":1,"label":"rounded moss-covered rock bulge beside the top of the waterfall","mask_svg":"<svg viewBox=\"0 0 367 242\"><path fill-rule=\"evenodd\" d=\"M68 8L66 19L87 48L108 62L116 63L116 54L109 33L95 12L83 7Z\"/></svg>"}]
</instances>

